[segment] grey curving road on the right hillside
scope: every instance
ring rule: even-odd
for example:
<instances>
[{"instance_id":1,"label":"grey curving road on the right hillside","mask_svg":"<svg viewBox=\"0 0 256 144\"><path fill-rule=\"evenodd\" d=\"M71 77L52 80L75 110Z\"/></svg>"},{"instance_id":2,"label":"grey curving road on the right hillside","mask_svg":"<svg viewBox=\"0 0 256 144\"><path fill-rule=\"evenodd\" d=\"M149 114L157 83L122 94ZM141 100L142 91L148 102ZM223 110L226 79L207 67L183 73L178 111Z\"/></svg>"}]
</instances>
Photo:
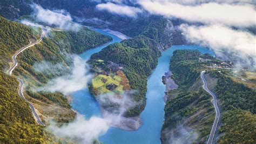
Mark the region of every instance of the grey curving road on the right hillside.
<instances>
[{"instance_id":1,"label":"grey curving road on the right hillside","mask_svg":"<svg viewBox=\"0 0 256 144\"><path fill-rule=\"evenodd\" d=\"M219 107L217 105L216 95L213 94L210 90L208 90L207 83L206 83L206 80L204 78L204 73L205 73L205 71L201 72L201 79L203 80L203 83L204 83L203 88L204 88L205 91L207 91L208 93L210 93L212 95L213 106L214 106L215 112L216 112L216 116L215 116L213 126L212 126L212 131L210 133L210 136L209 136L209 139L208 139L208 142L207 142L207 144L211 144L213 142L214 134L216 133L216 129L217 129L217 126L218 126L218 122L219 122L219 118L220 118L220 111L219 111Z\"/></svg>"}]
</instances>

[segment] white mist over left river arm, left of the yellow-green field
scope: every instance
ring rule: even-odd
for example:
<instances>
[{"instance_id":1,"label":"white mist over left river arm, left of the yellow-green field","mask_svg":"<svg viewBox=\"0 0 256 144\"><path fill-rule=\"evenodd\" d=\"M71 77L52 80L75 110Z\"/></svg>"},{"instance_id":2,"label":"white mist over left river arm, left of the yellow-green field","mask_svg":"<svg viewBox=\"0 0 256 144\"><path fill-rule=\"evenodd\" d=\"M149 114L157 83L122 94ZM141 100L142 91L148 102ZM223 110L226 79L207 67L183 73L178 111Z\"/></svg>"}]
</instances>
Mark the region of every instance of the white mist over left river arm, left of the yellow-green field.
<instances>
[{"instance_id":1,"label":"white mist over left river arm, left of the yellow-green field","mask_svg":"<svg viewBox=\"0 0 256 144\"><path fill-rule=\"evenodd\" d=\"M86 65L85 61L75 56L73 58L71 74L52 79L44 87L39 88L39 90L50 92L57 91L66 95L85 88L91 78L92 75L89 74L89 67Z\"/></svg>"}]
</instances>

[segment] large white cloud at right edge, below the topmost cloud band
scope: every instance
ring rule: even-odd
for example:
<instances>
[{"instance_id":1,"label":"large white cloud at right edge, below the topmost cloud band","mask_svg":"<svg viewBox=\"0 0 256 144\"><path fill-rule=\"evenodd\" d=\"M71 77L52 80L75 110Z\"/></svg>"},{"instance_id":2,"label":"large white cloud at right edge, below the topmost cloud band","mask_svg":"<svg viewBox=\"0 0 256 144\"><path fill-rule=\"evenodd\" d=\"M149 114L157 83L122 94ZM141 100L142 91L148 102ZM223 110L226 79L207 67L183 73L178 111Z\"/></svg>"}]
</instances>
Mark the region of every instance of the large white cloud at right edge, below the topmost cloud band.
<instances>
[{"instance_id":1,"label":"large white cloud at right edge, below the topmost cloud band","mask_svg":"<svg viewBox=\"0 0 256 144\"><path fill-rule=\"evenodd\" d=\"M195 44L210 47L217 54L225 50L233 55L247 59L252 57L256 62L256 37L249 32L233 30L227 26L214 24L205 26L181 25L187 33L186 38Z\"/></svg>"}]
</instances>

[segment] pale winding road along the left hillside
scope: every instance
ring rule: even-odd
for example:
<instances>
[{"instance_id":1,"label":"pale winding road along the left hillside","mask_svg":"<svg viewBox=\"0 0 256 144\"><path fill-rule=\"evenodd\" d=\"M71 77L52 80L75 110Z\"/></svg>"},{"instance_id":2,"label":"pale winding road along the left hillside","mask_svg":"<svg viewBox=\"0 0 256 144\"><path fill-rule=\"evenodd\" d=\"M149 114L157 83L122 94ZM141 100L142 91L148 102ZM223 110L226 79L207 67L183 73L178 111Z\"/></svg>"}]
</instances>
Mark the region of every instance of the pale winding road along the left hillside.
<instances>
[{"instance_id":1,"label":"pale winding road along the left hillside","mask_svg":"<svg viewBox=\"0 0 256 144\"><path fill-rule=\"evenodd\" d=\"M26 45L24 47L22 47L20 50L18 50L14 56L12 56L12 61L14 61L14 64L12 64L12 66L10 67L10 70L8 71L8 74L11 75L12 74L12 71L14 70L14 68L18 65L18 61L16 59L16 57L18 56L19 53L21 53L22 51L28 49L29 47L33 46L33 45L36 45L38 44L42 38L44 36L44 32L42 32L42 35L41 37L35 42L35 43L32 43L32 44L29 44L29 45ZM19 79L17 78L17 80L19 81L19 88L18 88L18 94L20 97L22 97L25 101L29 102L28 100L26 100L26 98L24 97L23 95L23 86L24 86L24 82L22 79ZM29 102L29 107L31 108L31 111L33 113L33 115L35 116L36 118L36 121L39 125L44 125L44 123L41 121L41 119L39 118L38 114L36 113L35 111L35 107Z\"/></svg>"}]
</instances>

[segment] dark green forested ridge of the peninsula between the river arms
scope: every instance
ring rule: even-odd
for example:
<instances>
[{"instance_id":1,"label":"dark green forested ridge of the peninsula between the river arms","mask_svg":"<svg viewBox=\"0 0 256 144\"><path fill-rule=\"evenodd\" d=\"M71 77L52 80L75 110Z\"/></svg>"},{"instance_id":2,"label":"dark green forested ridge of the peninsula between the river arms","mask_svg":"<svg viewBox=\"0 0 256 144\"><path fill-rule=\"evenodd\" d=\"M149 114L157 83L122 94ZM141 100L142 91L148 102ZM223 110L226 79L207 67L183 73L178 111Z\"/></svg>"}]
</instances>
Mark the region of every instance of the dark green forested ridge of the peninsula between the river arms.
<instances>
[{"instance_id":1,"label":"dark green forested ridge of the peninsula between the river arms","mask_svg":"<svg viewBox=\"0 0 256 144\"><path fill-rule=\"evenodd\" d=\"M160 50L166 49L172 42L170 35L162 35L165 33L167 20L158 18L137 37L109 45L91 56L91 61L102 59L105 63L113 62L124 66L123 71L130 81L131 89L137 90L132 98L138 102L133 109L127 111L126 116L138 116L143 111L146 105L147 77L157 65ZM163 43L159 45L159 42Z\"/></svg>"}]
</instances>

